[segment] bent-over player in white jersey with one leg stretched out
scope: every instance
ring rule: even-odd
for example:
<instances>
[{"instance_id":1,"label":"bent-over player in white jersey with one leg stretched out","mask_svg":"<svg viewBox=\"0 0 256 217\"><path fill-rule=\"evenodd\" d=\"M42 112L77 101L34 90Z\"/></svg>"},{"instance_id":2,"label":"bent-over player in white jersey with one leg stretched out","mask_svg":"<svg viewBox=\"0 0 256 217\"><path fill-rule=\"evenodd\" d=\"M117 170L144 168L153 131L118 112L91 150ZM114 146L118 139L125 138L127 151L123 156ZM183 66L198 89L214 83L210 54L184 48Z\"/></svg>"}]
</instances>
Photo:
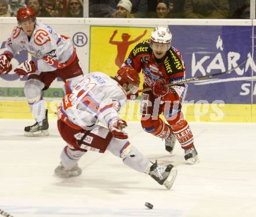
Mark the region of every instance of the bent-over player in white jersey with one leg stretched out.
<instances>
[{"instance_id":1,"label":"bent-over player in white jersey with one leg stretched out","mask_svg":"<svg viewBox=\"0 0 256 217\"><path fill-rule=\"evenodd\" d=\"M115 77L94 72L85 75L73 92L62 99L58 130L67 145L61 153L61 164L55 169L56 176L79 176L82 170L77 162L81 156L88 151L108 150L130 168L147 173L168 189L172 187L177 175L173 165L150 162L129 143L123 131L127 123L118 112L125 106L127 94L137 92L139 83L140 77L131 66L121 67Z\"/></svg>"}]
</instances>

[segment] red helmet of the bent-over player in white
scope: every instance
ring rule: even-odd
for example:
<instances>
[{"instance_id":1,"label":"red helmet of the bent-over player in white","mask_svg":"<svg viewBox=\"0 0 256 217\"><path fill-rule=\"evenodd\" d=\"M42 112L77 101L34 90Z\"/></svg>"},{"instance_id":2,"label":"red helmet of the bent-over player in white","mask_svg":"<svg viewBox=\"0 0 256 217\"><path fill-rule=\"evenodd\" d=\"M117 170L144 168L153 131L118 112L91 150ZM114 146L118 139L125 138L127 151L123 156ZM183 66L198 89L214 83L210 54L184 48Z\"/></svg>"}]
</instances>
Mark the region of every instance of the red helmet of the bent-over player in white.
<instances>
[{"instance_id":1,"label":"red helmet of the bent-over player in white","mask_svg":"<svg viewBox=\"0 0 256 217\"><path fill-rule=\"evenodd\" d=\"M140 77L133 67L128 65L120 67L115 79L121 85L128 83L129 93L136 94L138 86L140 85Z\"/></svg>"}]
</instances>

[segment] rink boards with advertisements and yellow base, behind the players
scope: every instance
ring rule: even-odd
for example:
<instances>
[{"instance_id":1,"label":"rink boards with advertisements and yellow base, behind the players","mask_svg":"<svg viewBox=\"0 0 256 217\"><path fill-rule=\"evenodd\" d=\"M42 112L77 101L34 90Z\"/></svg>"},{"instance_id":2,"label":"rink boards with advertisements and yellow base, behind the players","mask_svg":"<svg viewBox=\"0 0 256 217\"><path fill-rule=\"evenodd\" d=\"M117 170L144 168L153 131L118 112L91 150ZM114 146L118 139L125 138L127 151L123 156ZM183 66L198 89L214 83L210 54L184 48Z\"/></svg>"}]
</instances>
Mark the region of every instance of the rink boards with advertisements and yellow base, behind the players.
<instances>
[{"instance_id":1,"label":"rink boards with advertisements and yellow base, behind the players","mask_svg":"<svg viewBox=\"0 0 256 217\"><path fill-rule=\"evenodd\" d=\"M115 74L138 41L150 37L156 23L168 25L172 31L172 45L180 50L186 63L186 78L225 72L245 61L232 73L190 83L183 112L190 121L256 122L254 20L45 18L41 21L72 38L84 73ZM5 49L5 40L15 23L13 18L0 20L6 30L0 35L0 52ZM21 51L12 64L15 67L26 59L33 58ZM0 118L31 118L23 94L26 79L12 72L0 76ZM61 99L62 86L62 81L56 80L44 94L52 113L57 105L52 99ZM139 120L138 102L132 111L130 107L131 103L123 111L125 118Z\"/></svg>"}]
</instances>

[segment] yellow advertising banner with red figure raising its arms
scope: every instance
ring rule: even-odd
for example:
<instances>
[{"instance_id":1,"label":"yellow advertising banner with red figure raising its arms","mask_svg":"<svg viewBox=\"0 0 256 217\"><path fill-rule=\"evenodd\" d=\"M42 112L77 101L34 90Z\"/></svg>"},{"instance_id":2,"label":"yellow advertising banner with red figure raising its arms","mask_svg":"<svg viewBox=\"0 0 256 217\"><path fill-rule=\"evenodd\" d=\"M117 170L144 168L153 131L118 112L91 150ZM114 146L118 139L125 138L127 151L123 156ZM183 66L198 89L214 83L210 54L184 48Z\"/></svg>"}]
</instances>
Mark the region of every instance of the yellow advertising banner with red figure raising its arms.
<instances>
[{"instance_id":1,"label":"yellow advertising banner with red figure raising its arms","mask_svg":"<svg viewBox=\"0 0 256 217\"><path fill-rule=\"evenodd\" d=\"M129 52L152 28L91 26L90 72L116 74ZM142 78L142 77L141 77Z\"/></svg>"}]
</instances>

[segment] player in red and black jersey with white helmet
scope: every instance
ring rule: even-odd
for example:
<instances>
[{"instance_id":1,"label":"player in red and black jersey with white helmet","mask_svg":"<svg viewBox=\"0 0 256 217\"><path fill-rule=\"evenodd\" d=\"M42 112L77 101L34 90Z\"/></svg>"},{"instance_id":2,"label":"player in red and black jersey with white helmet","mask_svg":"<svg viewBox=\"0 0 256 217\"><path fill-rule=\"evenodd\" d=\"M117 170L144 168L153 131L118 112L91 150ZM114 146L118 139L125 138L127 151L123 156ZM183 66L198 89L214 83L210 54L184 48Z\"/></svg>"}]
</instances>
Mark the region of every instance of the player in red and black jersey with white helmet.
<instances>
[{"instance_id":1,"label":"player in red and black jersey with white helmet","mask_svg":"<svg viewBox=\"0 0 256 217\"><path fill-rule=\"evenodd\" d=\"M165 149L172 154L175 140L184 149L187 162L198 162L194 137L190 126L184 120L182 102L186 97L187 84L165 86L185 78L186 66L180 52L171 46L172 34L165 27L155 27L149 40L136 45L123 65L143 71L143 92L141 97L141 125L147 133L165 139ZM165 123L159 115L163 113Z\"/></svg>"}]
</instances>

